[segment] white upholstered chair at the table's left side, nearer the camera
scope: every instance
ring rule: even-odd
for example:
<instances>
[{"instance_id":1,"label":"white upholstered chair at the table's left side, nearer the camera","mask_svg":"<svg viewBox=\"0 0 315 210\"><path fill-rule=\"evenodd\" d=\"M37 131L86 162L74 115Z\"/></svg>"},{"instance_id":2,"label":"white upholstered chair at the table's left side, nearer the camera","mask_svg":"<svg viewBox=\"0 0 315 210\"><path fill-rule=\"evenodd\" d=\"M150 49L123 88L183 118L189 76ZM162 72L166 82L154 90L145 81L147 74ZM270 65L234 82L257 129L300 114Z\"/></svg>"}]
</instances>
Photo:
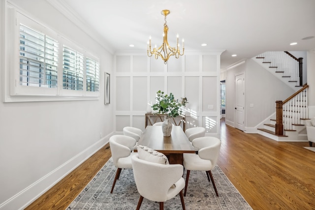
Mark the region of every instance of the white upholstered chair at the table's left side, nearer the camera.
<instances>
[{"instance_id":1,"label":"white upholstered chair at the table's left side, nearer the camera","mask_svg":"<svg viewBox=\"0 0 315 210\"><path fill-rule=\"evenodd\" d=\"M119 179L122 169L131 169L131 157L136 154L130 148L134 148L136 140L130 136L114 135L109 138L109 146L112 152L114 165L117 167L115 180L110 193L113 192L116 181Z\"/></svg>"}]
</instances>

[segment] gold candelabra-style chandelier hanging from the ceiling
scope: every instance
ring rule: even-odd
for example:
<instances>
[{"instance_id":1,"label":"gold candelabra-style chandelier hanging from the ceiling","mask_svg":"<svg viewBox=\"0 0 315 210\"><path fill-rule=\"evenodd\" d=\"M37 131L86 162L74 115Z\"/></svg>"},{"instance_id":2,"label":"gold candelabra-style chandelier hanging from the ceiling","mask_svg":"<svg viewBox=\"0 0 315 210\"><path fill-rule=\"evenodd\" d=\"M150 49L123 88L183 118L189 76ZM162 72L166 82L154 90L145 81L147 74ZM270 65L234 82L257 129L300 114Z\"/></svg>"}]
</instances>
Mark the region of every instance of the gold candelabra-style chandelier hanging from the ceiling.
<instances>
[{"instance_id":1,"label":"gold candelabra-style chandelier hanging from the ceiling","mask_svg":"<svg viewBox=\"0 0 315 210\"><path fill-rule=\"evenodd\" d=\"M151 50L151 36L150 36L150 40L148 42L148 56L151 57L152 55L154 55L155 59L158 59L158 57L161 57L162 60L164 60L164 64L167 63L167 60L169 59L169 57L171 56L175 56L175 58L179 58L179 56L184 55L184 39L183 41L183 52L181 53L180 49L179 49L179 44L178 44L178 34L177 34L177 45L176 47L171 47L168 44L167 41L167 31L168 31L168 27L166 25L166 16L170 13L169 10L162 10L161 14L164 15L164 33L163 33L163 43L160 47L157 48L157 46L155 48L153 48L153 50Z\"/></svg>"}]
</instances>

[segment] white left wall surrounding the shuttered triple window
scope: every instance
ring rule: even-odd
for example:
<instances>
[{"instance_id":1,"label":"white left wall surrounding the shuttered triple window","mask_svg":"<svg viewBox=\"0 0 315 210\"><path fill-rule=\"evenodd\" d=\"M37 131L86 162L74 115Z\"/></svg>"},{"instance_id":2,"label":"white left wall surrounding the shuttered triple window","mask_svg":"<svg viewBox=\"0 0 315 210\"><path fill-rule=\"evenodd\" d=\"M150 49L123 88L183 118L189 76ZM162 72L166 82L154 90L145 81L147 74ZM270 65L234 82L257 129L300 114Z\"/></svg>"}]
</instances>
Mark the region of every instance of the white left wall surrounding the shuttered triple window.
<instances>
[{"instance_id":1,"label":"white left wall surrounding the shuttered triple window","mask_svg":"<svg viewBox=\"0 0 315 210\"><path fill-rule=\"evenodd\" d=\"M100 95L91 101L0 102L0 209L17 210L58 182L100 149L113 132L113 105L104 105L104 72L113 56L47 1L13 0L52 30L100 60ZM0 5L0 97L4 98L4 15ZM62 23L62 24L61 24ZM13 34L12 34L13 35Z\"/></svg>"}]
</instances>

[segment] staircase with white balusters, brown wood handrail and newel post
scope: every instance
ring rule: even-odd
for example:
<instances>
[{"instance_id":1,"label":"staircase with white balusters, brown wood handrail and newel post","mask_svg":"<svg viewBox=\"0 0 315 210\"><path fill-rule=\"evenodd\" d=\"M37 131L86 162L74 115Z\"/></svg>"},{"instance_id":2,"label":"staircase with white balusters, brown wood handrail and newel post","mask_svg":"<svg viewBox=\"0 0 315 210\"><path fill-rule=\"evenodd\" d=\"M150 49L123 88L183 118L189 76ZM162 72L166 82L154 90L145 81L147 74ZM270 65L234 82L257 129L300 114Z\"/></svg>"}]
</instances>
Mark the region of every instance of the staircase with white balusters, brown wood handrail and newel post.
<instances>
[{"instance_id":1,"label":"staircase with white balusters, brown wood handrail and newel post","mask_svg":"<svg viewBox=\"0 0 315 210\"><path fill-rule=\"evenodd\" d=\"M296 91L285 101L276 102L276 113L271 116L271 119L265 120L263 128L257 128L257 131L258 134L279 142L307 142L304 122L308 119L308 86L301 85L302 58L296 59L288 54L287 52L266 52L252 58Z\"/></svg>"}]
</instances>

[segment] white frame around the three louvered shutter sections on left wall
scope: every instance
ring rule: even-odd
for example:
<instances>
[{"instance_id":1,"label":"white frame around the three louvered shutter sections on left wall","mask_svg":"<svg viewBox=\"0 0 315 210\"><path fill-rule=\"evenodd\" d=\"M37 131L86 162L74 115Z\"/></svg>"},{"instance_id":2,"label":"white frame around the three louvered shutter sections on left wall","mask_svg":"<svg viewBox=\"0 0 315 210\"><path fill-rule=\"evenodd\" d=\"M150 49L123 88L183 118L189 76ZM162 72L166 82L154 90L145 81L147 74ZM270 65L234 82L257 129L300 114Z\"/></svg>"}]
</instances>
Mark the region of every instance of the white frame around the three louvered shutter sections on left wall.
<instances>
[{"instance_id":1,"label":"white frame around the three louvered shutter sections on left wall","mask_svg":"<svg viewBox=\"0 0 315 210\"><path fill-rule=\"evenodd\" d=\"M4 102L19 102L19 101L61 101L61 100L99 100L100 87L98 91L87 91L86 82L86 58L92 58L98 63L98 74L101 74L100 62L97 57L92 53L85 51L83 48L78 47L73 41L58 34L54 30L50 30L43 24L31 19L28 15L25 15L21 11L18 11L14 7L8 7L6 9L7 21L5 24L5 37L6 43L4 52L6 64L5 64L5 96ZM47 87L32 87L20 85L20 24L23 24L32 30L44 33L49 37L58 41L58 73L57 73L57 88ZM14 26L12 26L14 25ZM14 34L14 36L12 36ZM84 57L84 78L83 78L83 90L71 90L67 91L63 89L63 45L71 47L72 49L80 52ZM13 49L12 49L13 48ZM7 68L8 67L8 68ZM98 84L100 86L101 78L98 77Z\"/></svg>"}]
</instances>

